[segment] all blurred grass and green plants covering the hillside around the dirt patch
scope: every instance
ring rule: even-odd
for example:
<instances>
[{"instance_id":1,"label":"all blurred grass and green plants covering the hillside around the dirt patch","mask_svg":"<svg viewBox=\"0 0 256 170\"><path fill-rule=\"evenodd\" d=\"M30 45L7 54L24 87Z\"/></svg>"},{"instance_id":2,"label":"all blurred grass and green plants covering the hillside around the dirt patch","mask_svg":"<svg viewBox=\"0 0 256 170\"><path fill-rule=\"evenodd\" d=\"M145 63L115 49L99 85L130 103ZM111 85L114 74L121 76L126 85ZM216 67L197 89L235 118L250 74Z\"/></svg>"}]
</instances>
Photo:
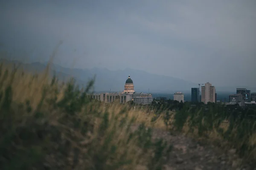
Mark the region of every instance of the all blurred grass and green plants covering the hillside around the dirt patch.
<instances>
[{"instance_id":1,"label":"all blurred grass and green plants covering the hillside around the dirt patch","mask_svg":"<svg viewBox=\"0 0 256 170\"><path fill-rule=\"evenodd\" d=\"M79 88L75 79L49 78L49 66L33 74L0 65L1 170L160 170L172 146L153 140L152 128L236 148L244 160L256 160L254 119L236 119L217 105L135 111L129 104L101 103L86 95L94 79Z\"/></svg>"}]
</instances>

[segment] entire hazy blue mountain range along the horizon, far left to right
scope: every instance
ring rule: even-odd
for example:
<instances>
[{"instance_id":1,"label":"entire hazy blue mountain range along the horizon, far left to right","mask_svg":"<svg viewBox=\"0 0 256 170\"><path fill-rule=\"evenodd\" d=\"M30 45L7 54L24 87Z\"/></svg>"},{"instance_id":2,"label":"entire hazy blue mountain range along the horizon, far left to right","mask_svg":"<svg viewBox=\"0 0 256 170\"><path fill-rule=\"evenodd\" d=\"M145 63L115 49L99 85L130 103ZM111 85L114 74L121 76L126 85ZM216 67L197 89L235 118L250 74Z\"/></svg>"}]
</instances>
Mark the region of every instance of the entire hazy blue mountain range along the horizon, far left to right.
<instances>
[{"instance_id":1,"label":"entire hazy blue mountain range along the horizon, far left to right","mask_svg":"<svg viewBox=\"0 0 256 170\"><path fill-rule=\"evenodd\" d=\"M3 61L3 59L2 59ZM4 60L9 63L20 63L26 71L44 71L47 63L32 62L21 63L18 61ZM93 90L96 92L119 92L124 90L125 81L128 76L134 82L135 91L150 92L150 93L174 93L182 91L190 93L192 87L198 87L198 84L189 82L175 77L150 74L145 71L125 68L124 70L111 71L106 68L66 68L58 64L51 65L50 75L56 74L61 80L67 80L71 76L76 79L77 84L86 85L88 80L96 76L96 81ZM240 87L239 87L240 88ZM216 87L217 91L236 91L236 88L230 87ZM254 90L254 89L252 89Z\"/></svg>"}]
</instances>

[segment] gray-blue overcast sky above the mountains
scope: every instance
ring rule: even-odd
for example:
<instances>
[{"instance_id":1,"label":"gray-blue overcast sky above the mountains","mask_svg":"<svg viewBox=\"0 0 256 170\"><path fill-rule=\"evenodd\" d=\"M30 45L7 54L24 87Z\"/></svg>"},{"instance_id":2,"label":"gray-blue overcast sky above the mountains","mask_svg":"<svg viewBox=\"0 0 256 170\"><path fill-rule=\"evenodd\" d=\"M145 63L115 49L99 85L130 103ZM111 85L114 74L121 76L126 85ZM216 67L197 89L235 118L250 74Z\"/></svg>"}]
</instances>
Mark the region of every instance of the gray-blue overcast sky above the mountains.
<instances>
[{"instance_id":1,"label":"gray-blue overcast sky above the mountains","mask_svg":"<svg viewBox=\"0 0 256 170\"><path fill-rule=\"evenodd\" d=\"M1 0L2 48L77 68L256 87L256 0Z\"/></svg>"}]
</instances>

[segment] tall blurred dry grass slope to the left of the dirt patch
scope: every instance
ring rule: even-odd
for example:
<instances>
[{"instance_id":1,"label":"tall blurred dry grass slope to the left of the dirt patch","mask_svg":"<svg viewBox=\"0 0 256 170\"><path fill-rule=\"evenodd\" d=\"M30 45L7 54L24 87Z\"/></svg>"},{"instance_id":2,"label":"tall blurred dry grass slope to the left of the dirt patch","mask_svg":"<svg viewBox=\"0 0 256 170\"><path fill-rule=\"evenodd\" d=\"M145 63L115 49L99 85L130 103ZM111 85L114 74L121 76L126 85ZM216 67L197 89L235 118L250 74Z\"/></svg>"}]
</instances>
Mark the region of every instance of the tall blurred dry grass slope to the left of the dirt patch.
<instances>
[{"instance_id":1,"label":"tall blurred dry grass slope to the left of the dirt patch","mask_svg":"<svg viewBox=\"0 0 256 170\"><path fill-rule=\"evenodd\" d=\"M152 140L152 114L87 99L75 79L0 65L1 170L160 170L171 150ZM139 125L135 131L131 126Z\"/></svg>"}]
</instances>

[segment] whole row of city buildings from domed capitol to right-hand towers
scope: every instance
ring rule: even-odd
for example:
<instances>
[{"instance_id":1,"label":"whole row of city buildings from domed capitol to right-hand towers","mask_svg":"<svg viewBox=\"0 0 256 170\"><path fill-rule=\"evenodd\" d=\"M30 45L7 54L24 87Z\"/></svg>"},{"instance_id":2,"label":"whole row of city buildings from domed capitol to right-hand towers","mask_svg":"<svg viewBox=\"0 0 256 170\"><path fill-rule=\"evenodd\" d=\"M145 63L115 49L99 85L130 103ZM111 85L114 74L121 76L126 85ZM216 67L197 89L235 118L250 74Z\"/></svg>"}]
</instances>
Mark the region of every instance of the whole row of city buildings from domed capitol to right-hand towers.
<instances>
[{"instance_id":1,"label":"whole row of city buildings from domed capitol to right-hand towers","mask_svg":"<svg viewBox=\"0 0 256 170\"><path fill-rule=\"evenodd\" d=\"M169 99L173 99L173 100L177 100L178 102L186 102L186 101L191 101L191 102L204 102L204 104L207 104L208 102L213 102L213 103L217 103L220 101L217 101L217 93L215 91L215 86L212 86L211 83L207 82L204 84L200 84L201 86L201 95L200 95L200 88L191 88L191 100L184 100L184 93L183 92L175 92L172 96L169 96ZM249 93L249 95L248 95ZM115 93L111 93L111 91L105 92L105 93L101 93L101 94L89 94L89 96L92 99L98 99L101 101L105 101L102 98L102 95L107 95L107 96L111 96L114 97L114 99L116 98L116 96L120 96L120 94L140 94L140 95L146 95L148 96L148 94L143 94L143 93L137 93L134 91L134 84L133 81L130 77L130 75L128 76L128 79L125 82L125 90L123 92L115 92ZM252 96L251 96L252 94ZM138 98L138 96L137 96ZM144 98L144 97L143 97ZM167 98L164 96L158 96L158 97L154 97L155 99L159 99L159 100L166 100ZM134 100L135 98L126 98L128 99L128 101L130 99ZM139 100L138 100L139 99ZM140 102L140 97L136 100L134 100L135 103L139 103ZM153 95L150 94L150 99L153 99ZM123 98L120 100L121 103L123 103ZM105 101L106 102L106 101ZM111 101L108 101L111 102ZM112 101L113 102L113 101ZM250 104L254 104L256 102L256 92L252 92L246 88L236 88L236 94L229 94L229 98L226 101L226 99L224 99L224 102L226 103L226 105L234 105L234 104L239 104L240 106L244 106L245 103L250 103ZM148 102L145 101L145 104L147 104Z\"/></svg>"}]
</instances>

